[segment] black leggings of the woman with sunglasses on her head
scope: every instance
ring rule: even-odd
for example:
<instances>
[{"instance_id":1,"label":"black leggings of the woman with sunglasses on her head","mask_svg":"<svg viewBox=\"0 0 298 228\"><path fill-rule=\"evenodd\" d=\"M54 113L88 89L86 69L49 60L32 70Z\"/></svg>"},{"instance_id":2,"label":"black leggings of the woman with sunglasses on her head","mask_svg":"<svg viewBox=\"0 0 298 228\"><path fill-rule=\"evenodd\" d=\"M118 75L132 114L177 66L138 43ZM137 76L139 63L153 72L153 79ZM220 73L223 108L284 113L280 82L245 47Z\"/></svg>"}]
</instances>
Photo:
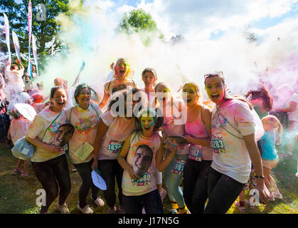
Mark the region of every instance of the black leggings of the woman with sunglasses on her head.
<instances>
[{"instance_id":1,"label":"black leggings of the woman with sunglasses on her head","mask_svg":"<svg viewBox=\"0 0 298 228\"><path fill-rule=\"evenodd\" d=\"M208 175L208 204L205 214L225 214L237 199L245 184L242 184L211 167Z\"/></svg>"}]
</instances>

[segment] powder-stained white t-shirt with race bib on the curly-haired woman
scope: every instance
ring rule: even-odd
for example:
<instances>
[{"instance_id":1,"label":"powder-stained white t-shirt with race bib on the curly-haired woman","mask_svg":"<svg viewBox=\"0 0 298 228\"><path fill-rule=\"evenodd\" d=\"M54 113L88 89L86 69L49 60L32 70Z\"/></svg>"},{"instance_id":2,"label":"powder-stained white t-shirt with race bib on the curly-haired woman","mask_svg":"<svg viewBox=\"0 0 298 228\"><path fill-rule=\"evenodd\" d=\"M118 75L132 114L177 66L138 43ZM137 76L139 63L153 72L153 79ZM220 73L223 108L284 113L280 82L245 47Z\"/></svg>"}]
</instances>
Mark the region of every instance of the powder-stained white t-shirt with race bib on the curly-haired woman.
<instances>
[{"instance_id":1,"label":"powder-stained white t-shirt with race bib on the curly-haired woman","mask_svg":"<svg viewBox=\"0 0 298 228\"><path fill-rule=\"evenodd\" d=\"M118 158L122 145L128 135L132 134L136 129L137 121L135 118L114 118L110 110L107 110L102 115L102 122L109 128L102 139L98 160L115 160Z\"/></svg>"}]
</instances>

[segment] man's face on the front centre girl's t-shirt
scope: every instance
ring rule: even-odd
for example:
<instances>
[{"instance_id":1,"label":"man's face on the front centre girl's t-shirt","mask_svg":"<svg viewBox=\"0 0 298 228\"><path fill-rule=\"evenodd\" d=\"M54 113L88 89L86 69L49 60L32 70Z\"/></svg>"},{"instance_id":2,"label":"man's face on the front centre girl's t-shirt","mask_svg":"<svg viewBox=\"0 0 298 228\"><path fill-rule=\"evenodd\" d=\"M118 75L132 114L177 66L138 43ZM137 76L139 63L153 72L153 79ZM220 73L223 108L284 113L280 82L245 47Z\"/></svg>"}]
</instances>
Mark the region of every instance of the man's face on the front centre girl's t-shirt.
<instances>
[{"instance_id":1,"label":"man's face on the front centre girl's t-shirt","mask_svg":"<svg viewBox=\"0 0 298 228\"><path fill-rule=\"evenodd\" d=\"M142 177L151 166L153 152L149 147L140 147L134 156L134 172Z\"/></svg>"}]
</instances>

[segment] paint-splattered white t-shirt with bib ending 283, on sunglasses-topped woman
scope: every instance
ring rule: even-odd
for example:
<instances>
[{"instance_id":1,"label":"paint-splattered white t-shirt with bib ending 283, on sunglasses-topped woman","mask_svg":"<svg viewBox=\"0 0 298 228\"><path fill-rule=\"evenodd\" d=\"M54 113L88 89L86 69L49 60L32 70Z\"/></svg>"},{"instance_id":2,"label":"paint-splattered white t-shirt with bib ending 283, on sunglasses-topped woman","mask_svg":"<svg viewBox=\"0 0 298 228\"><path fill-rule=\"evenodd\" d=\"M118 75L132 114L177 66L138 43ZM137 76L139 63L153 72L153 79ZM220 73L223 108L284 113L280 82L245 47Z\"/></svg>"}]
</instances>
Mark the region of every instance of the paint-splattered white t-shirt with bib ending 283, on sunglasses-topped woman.
<instances>
[{"instance_id":1,"label":"paint-splattered white t-shirt with bib ending 283, on sunglasses-topped woman","mask_svg":"<svg viewBox=\"0 0 298 228\"><path fill-rule=\"evenodd\" d=\"M235 99L223 103L220 114L214 107L211 120L213 148L211 167L240 183L246 183L250 177L251 160L244 140L239 138L255 133L254 116L247 103Z\"/></svg>"}]
</instances>

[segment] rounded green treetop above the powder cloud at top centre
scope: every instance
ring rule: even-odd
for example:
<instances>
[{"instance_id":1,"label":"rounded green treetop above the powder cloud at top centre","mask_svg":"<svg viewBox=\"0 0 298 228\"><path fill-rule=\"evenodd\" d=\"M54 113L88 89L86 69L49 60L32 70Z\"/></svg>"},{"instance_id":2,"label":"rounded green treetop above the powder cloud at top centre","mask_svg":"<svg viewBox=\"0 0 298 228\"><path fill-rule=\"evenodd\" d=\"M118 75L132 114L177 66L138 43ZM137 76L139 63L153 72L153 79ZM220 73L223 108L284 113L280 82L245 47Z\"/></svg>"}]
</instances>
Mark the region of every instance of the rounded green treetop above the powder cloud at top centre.
<instances>
[{"instance_id":1,"label":"rounded green treetop above the powder cloud at top centre","mask_svg":"<svg viewBox=\"0 0 298 228\"><path fill-rule=\"evenodd\" d=\"M156 36L156 34L161 40L164 40L164 35L157 28L151 14L143 9L134 9L125 13L116 31L119 33L127 33L129 35L132 33L139 33L145 45L149 45L152 36Z\"/></svg>"}]
</instances>

